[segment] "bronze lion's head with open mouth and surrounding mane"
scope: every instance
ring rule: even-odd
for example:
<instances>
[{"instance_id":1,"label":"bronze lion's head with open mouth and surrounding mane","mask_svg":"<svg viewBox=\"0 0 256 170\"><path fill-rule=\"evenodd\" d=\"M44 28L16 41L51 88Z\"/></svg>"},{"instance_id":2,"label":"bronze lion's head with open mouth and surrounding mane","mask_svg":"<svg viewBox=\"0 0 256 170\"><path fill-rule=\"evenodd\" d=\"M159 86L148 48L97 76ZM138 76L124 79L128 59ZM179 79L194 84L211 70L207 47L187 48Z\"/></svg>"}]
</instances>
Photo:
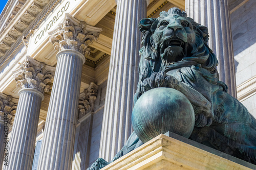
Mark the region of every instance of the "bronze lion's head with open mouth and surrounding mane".
<instances>
[{"instance_id":1,"label":"bronze lion's head with open mouth and surrounding mane","mask_svg":"<svg viewBox=\"0 0 256 170\"><path fill-rule=\"evenodd\" d=\"M143 93L143 80L154 72L201 64L218 76L218 60L206 44L208 29L187 17L184 11L171 8L160 12L158 18L142 19L139 29L143 33L143 47L135 102Z\"/></svg>"}]
</instances>

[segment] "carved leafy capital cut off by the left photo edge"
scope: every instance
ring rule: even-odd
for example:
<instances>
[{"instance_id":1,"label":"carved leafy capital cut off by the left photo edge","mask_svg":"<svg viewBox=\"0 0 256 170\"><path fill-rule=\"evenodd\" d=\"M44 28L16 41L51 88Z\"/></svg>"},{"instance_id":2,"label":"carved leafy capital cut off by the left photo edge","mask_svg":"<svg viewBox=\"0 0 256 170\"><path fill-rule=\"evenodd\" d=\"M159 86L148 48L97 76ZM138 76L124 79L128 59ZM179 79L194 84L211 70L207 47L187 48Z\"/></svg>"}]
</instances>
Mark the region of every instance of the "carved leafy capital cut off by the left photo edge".
<instances>
[{"instance_id":1,"label":"carved leafy capital cut off by the left photo edge","mask_svg":"<svg viewBox=\"0 0 256 170\"><path fill-rule=\"evenodd\" d=\"M13 103L10 95L0 93L0 120L12 126L16 113L17 104Z\"/></svg>"}]
</instances>

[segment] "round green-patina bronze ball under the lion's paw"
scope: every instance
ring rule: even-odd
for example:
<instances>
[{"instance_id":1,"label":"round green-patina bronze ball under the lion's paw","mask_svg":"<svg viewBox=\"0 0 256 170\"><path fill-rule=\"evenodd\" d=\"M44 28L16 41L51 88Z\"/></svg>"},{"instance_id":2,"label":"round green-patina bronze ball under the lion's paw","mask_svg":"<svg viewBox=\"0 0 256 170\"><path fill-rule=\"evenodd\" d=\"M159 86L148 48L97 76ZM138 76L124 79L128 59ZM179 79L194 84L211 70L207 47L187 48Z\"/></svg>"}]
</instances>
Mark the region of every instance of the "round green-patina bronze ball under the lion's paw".
<instances>
[{"instance_id":1,"label":"round green-patina bronze ball under the lion's paw","mask_svg":"<svg viewBox=\"0 0 256 170\"><path fill-rule=\"evenodd\" d=\"M168 131L188 138L195 126L195 113L186 96L178 90L154 88L136 102L132 124L143 143Z\"/></svg>"}]
</instances>

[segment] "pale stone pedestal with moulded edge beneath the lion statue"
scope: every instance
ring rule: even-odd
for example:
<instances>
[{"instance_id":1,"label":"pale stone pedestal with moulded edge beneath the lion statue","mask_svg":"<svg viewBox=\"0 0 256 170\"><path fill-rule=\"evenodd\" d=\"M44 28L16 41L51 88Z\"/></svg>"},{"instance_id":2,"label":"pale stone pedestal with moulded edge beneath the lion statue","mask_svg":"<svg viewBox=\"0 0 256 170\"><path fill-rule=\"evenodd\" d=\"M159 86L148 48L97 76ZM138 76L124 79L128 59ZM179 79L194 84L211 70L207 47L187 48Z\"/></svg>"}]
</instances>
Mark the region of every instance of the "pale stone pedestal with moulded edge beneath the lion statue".
<instances>
[{"instance_id":1,"label":"pale stone pedestal with moulded edge beneath the lion statue","mask_svg":"<svg viewBox=\"0 0 256 170\"><path fill-rule=\"evenodd\" d=\"M256 169L256 165L168 132L102 169Z\"/></svg>"}]
</instances>

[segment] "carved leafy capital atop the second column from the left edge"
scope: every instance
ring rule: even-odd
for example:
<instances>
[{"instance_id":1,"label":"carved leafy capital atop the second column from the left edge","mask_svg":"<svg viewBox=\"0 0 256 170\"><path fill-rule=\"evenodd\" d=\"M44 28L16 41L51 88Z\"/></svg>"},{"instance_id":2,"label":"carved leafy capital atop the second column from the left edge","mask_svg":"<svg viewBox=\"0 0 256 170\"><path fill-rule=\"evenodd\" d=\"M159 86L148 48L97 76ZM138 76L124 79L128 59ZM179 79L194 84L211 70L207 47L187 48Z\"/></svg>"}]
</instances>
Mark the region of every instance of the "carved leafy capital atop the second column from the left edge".
<instances>
[{"instance_id":1,"label":"carved leafy capital atop the second column from the left edge","mask_svg":"<svg viewBox=\"0 0 256 170\"><path fill-rule=\"evenodd\" d=\"M33 88L44 93L51 89L49 83L53 83L55 67L38 62L27 56L25 63L19 63L20 67L14 79L17 87L21 89Z\"/></svg>"}]
</instances>

